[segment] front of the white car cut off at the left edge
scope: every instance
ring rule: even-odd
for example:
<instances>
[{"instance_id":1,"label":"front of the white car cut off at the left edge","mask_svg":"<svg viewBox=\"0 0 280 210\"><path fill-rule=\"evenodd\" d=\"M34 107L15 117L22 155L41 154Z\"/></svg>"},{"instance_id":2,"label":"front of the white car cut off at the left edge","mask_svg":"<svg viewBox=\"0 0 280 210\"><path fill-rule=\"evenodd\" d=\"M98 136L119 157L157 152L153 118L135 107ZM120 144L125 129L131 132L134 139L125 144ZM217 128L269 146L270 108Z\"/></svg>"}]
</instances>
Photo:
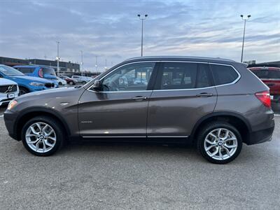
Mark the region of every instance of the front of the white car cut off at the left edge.
<instances>
[{"instance_id":1,"label":"front of the white car cut off at the left edge","mask_svg":"<svg viewBox=\"0 0 280 210\"><path fill-rule=\"evenodd\" d=\"M20 92L18 84L12 80L0 78L0 106L8 104Z\"/></svg>"}]
</instances>

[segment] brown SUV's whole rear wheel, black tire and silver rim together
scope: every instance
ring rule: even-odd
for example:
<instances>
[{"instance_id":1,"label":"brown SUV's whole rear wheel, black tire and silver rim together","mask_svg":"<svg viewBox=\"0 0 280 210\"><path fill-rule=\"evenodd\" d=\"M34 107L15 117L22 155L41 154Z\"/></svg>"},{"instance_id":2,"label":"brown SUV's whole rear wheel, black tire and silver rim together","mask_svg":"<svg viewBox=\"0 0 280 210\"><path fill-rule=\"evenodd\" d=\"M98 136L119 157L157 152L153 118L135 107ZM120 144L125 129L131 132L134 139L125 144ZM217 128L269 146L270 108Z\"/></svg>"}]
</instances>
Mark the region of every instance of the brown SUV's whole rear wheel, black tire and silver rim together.
<instances>
[{"instance_id":1,"label":"brown SUV's whole rear wheel, black tire and silver rim together","mask_svg":"<svg viewBox=\"0 0 280 210\"><path fill-rule=\"evenodd\" d=\"M226 138L227 132L228 137ZM212 163L225 164L231 162L237 158L241 149L241 134L230 123L209 123L202 127L197 135L197 150L203 158ZM211 155L213 156L211 157Z\"/></svg>"}]
</instances>

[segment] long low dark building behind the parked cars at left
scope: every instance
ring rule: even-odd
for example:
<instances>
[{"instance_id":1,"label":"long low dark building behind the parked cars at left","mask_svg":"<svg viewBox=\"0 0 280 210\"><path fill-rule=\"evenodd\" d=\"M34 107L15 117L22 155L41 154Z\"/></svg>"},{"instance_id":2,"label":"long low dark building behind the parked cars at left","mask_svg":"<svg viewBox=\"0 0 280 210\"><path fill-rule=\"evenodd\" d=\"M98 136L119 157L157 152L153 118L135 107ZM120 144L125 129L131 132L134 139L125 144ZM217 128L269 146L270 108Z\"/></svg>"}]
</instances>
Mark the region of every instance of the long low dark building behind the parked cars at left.
<instances>
[{"instance_id":1,"label":"long low dark building behind the parked cars at left","mask_svg":"<svg viewBox=\"0 0 280 210\"><path fill-rule=\"evenodd\" d=\"M57 71L57 61L48 59L18 59L12 57L0 57L0 64L7 66L15 65L44 65L51 66ZM59 73L62 74L73 74L80 73L80 64L72 62L59 62Z\"/></svg>"}]
</instances>

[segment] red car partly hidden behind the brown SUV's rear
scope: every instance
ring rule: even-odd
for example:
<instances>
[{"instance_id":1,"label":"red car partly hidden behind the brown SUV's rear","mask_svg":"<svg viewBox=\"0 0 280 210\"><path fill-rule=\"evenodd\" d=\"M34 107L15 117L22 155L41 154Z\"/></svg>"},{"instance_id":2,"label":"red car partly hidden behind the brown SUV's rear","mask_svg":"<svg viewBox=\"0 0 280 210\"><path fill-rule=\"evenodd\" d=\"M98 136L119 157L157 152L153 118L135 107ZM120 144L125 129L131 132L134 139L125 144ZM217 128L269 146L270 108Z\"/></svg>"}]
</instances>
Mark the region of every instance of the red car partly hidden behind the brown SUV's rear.
<instances>
[{"instance_id":1,"label":"red car partly hidden behind the brown SUV's rear","mask_svg":"<svg viewBox=\"0 0 280 210\"><path fill-rule=\"evenodd\" d=\"M270 89L271 99L280 101L280 68L277 67L251 67L255 73Z\"/></svg>"}]
</instances>

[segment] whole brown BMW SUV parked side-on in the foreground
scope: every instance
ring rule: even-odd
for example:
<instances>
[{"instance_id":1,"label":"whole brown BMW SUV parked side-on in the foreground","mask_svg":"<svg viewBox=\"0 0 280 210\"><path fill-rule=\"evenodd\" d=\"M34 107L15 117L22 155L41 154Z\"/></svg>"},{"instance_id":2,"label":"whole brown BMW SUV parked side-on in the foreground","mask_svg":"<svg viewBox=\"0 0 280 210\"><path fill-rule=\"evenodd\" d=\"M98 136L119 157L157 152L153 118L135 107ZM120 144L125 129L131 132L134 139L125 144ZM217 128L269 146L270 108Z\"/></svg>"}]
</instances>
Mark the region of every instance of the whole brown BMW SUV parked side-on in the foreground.
<instances>
[{"instance_id":1,"label":"whole brown BMW SUV parked side-on in the foreground","mask_svg":"<svg viewBox=\"0 0 280 210\"><path fill-rule=\"evenodd\" d=\"M226 163L274 130L269 88L244 64L203 57L127 59L83 86L18 97L4 119L41 156L71 139L193 142Z\"/></svg>"}]
</instances>

